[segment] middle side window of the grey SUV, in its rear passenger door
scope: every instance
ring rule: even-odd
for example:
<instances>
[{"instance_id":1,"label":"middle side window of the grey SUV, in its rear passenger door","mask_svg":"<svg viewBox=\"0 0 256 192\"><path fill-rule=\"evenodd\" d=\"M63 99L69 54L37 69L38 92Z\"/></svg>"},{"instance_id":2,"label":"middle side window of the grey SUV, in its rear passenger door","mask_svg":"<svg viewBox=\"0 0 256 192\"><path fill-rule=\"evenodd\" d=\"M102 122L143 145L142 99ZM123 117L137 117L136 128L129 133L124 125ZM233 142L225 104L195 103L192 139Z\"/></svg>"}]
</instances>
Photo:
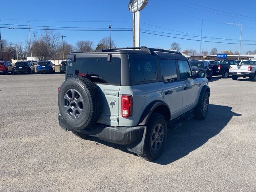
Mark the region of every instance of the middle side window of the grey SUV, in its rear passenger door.
<instances>
[{"instance_id":1,"label":"middle side window of the grey SUV, in its rear passenger door","mask_svg":"<svg viewBox=\"0 0 256 192\"><path fill-rule=\"evenodd\" d=\"M164 82L167 83L177 81L177 70L175 61L164 59L161 59L159 61L161 67L161 74Z\"/></svg>"}]
</instances>

